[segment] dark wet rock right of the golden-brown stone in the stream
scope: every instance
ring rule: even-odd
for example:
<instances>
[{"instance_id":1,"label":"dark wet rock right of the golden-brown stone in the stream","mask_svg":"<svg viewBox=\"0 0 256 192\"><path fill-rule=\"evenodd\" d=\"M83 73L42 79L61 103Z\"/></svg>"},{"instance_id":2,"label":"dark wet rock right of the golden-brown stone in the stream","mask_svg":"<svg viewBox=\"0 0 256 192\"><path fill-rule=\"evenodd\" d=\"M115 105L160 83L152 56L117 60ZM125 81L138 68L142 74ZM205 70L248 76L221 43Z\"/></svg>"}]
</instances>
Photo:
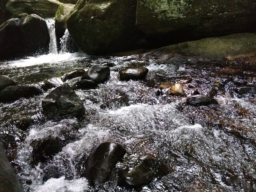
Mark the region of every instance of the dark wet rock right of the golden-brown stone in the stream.
<instances>
[{"instance_id":1,"label":"dark wet rock right of the golden-brown stone in the stream","mask_svg":"<svg viewBox=\"0 0 256 192\"><path fill-rule=\"evenodd\" d=\"M206 95L194 95L187 98L187 105L201 106L215 104L215 100Z\"/></svg>"}]
</instances>

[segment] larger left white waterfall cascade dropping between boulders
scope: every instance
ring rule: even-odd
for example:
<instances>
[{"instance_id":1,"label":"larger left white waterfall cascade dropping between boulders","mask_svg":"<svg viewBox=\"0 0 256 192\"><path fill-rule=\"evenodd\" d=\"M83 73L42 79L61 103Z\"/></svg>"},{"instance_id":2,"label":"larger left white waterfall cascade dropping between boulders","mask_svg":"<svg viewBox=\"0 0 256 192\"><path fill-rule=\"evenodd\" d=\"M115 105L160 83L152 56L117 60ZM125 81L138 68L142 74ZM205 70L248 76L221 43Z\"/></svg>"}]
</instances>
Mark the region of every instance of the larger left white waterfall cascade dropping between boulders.
<instances>
[{"instance_id":1,"label":"larger left white waterfall cascade dropping between boulders","mask_svg":"<svg viewBox=\"0 0 256 192\"><path fill-rule=\"evenodd\" d=\"M58 50L57 50L57 40L55 35L55 19L48 18L45 21L46 21L46 24L49 30L49 35L50 35L49 53L53 55L57 55Z\"/></svg>"}]
</instances>

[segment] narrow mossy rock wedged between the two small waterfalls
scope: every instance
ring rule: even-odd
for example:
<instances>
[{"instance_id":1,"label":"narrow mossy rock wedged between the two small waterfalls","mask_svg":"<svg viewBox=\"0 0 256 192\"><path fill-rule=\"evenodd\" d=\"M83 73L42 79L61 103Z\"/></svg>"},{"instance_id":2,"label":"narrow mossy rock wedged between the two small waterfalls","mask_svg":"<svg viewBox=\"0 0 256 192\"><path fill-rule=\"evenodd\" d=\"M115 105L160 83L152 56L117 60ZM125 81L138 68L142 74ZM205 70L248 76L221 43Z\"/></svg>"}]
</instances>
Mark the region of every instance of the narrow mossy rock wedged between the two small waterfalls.
<instances>
[{"instance_id":1,"label":"narrow mossy rock wedged between the two small waterfalls","mask_svg":"<svg viewBox=\"0 0 256 192\"><path fill-rule=\"evenodd\" d=\"M73 4L59 5L55 14L55 32L57 38L61 38L64 35L65 30L67 29L67 16L74 6L75 5Z\"/></svg>"}]
</instances>

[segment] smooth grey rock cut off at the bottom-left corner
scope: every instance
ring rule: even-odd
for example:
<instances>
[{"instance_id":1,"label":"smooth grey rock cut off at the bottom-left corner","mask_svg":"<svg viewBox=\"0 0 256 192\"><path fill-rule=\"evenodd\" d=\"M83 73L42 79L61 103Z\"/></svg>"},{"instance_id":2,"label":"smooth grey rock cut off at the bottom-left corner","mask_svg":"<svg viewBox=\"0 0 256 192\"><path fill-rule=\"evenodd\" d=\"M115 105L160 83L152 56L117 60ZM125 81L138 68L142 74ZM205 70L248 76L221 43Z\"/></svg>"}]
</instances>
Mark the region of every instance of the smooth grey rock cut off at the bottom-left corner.
<instances>
[{"instance_id":1,"label":"smooth grey rock cut off at the bottom-left corner","mask_svg":"<svg viewBox=\"0 0 256 192\"><path fill-rule=\"evenodd\" d=\"M24 192L0 142L0 191Z\"/></svg>"}]
</instances>

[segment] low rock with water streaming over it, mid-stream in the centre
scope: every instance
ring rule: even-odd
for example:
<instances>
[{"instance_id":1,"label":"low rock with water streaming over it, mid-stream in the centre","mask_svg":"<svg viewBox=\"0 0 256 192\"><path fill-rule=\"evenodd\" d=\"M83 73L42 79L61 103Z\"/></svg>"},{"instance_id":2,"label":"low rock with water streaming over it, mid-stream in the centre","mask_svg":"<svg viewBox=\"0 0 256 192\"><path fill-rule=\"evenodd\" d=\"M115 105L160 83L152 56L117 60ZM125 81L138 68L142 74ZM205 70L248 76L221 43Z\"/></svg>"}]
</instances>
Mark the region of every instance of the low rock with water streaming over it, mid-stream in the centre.
<instances>
[{"instance_id":1,"label":"low rock with water streaming over it, mid-stream in the centre","mask_svg":"<svg viewBox=\"0 0 256 192\"><path fill-rule=\"evenodd\" d=\"M128 96L125 92L120 90L109 90L107 95L103 97L103 104L101 105L101 108L120 107L122 105L129 105Z\"/></svg>"}]
</instances>

